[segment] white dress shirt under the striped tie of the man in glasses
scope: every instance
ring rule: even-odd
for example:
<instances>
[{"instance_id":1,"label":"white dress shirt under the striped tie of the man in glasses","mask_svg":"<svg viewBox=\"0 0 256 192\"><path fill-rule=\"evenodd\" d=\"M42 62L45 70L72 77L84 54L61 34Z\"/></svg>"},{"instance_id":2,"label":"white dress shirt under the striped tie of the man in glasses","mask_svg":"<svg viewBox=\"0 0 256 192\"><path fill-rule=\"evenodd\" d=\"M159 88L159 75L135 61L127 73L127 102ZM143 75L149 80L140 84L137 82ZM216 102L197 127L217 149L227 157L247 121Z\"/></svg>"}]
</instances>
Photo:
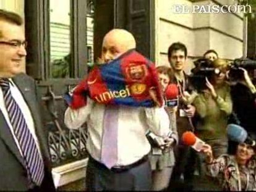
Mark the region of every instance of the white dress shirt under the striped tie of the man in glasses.
<instances>
[{"instance_id":1,"label":"white dress shirt under the striped tie of the man in glasses","mask_svg":"<svg viewBox=\"0 0 256 192\"><path fill-rule=\"evenodd\" d=\"M15 86L15 83L11 79L9 79L9 80L12 82L12 83L10 83L10 90L11 90L12 97L17 102L18 106L20 107L20 110L22 111L25 122L27 123L28 129L30 130L30 133L32 134L32 136L35 140L36 146L37 146L38 151L41 156L38 139L37 139L36 133L35 133L35 125L33 122L33 118L32 118L30 109L28 108L27 103L23 99L23 96L20 93L19 88L17 88L17 86ZM4 119L6 119L7 125L9 126L9 128L11 130L12 136L15 140L17 147L19 148L20 154L23 156L22 150L20 149L19 141L17 140L17 138L14 134L14 128L12 127L11 121L9 119L9 115L8 115L8 112L6 109L6 105L4 103L4 97L2 94L1 88L0 88L0 110L2 111L2 114L4 115Z\"/></svg>"}]
</instances>

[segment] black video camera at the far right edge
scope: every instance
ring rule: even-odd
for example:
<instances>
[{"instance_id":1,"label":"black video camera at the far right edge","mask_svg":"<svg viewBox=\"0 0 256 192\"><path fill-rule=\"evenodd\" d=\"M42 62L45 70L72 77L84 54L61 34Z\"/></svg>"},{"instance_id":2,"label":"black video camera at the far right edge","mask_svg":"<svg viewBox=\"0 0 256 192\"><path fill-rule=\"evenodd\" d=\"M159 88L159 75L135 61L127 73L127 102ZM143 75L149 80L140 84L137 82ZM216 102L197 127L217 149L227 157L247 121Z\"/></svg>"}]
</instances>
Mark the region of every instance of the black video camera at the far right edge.
<instances>
[{"instance_id":1,"label":"black video camera at the far right edge","mask_svg":"<svg viewBox=\"0 0 256 192\"><path fill-rule=\"evenodd\" d=\"M250 70L256 69L256 61L251 59L235 59L234 62L230 65L229 69L229 80L244 80L244 72L240 69L243 68L249 72ZM253 75L254 79L256 78L256 73Z\"/></svg>"}]
</instances>

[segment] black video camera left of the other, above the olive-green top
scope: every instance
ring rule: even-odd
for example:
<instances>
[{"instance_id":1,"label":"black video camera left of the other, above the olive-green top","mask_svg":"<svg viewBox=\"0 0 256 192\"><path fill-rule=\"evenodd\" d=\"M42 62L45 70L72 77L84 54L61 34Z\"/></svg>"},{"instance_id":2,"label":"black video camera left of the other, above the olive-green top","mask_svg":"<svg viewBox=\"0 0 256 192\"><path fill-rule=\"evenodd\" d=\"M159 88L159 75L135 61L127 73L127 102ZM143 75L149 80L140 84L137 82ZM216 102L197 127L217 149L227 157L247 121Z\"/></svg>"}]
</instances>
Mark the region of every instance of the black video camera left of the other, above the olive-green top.
<instances>
[{"instance_id":1,"label":"black video camera left of the other, above the olive-green top","mask_svg":"<svg viewBox=\"0 0 256 192\"><path fill-rule=\"evenodd\" d=\"M198 92L207 89L206 78L210 81L214 74L219 74L220 69L213 67L208 59L197 59L194 61L195 67L191 70L192 75L189 76L191 86Z\"/></svg>"}]
</instances>

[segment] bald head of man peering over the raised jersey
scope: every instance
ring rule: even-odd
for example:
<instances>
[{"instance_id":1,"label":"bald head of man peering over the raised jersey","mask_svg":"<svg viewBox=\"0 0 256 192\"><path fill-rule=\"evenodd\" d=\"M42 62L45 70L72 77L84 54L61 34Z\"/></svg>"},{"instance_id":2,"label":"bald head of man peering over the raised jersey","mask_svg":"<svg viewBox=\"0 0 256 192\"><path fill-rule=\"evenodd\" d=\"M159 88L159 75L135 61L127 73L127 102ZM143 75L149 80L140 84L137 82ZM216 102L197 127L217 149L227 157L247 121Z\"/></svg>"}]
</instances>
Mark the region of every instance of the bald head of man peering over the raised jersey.
<instances>
[{"instance_id":1,"label":"bald head of man peering over the raised jersey","mask_svg":"<svg viewBox=\"0 0 256 192\"><path fill-rule=\"evenodd\" d=\"M136 42L134 36L126 30L113 29L109 31L102 44L102 59L105 62L111 61L129 49L135 49Z\"/></svg>"}]
</instances>

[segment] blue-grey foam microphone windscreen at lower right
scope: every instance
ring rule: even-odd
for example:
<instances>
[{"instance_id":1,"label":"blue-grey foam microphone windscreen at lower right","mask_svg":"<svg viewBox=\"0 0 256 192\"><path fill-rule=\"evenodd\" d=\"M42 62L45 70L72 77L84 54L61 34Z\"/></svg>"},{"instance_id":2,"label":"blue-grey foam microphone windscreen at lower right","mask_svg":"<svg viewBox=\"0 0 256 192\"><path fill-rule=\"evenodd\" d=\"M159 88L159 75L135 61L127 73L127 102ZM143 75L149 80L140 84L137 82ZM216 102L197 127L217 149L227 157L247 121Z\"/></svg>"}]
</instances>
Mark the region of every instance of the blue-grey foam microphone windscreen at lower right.
<instances>
[{"instance_id":1,"label":"blue-grey foam microphone windscreen at lower right","mask_svg":"<svg viewBox=\"0 0 256 192\"><path fill-rule=\"evenodd\" d=\"M236 141L237 143L244 143L247 139L247 131L244 130L239 125L229 124L227 127L228 138L231 141Z\"/></svg>"}]
</instances>

